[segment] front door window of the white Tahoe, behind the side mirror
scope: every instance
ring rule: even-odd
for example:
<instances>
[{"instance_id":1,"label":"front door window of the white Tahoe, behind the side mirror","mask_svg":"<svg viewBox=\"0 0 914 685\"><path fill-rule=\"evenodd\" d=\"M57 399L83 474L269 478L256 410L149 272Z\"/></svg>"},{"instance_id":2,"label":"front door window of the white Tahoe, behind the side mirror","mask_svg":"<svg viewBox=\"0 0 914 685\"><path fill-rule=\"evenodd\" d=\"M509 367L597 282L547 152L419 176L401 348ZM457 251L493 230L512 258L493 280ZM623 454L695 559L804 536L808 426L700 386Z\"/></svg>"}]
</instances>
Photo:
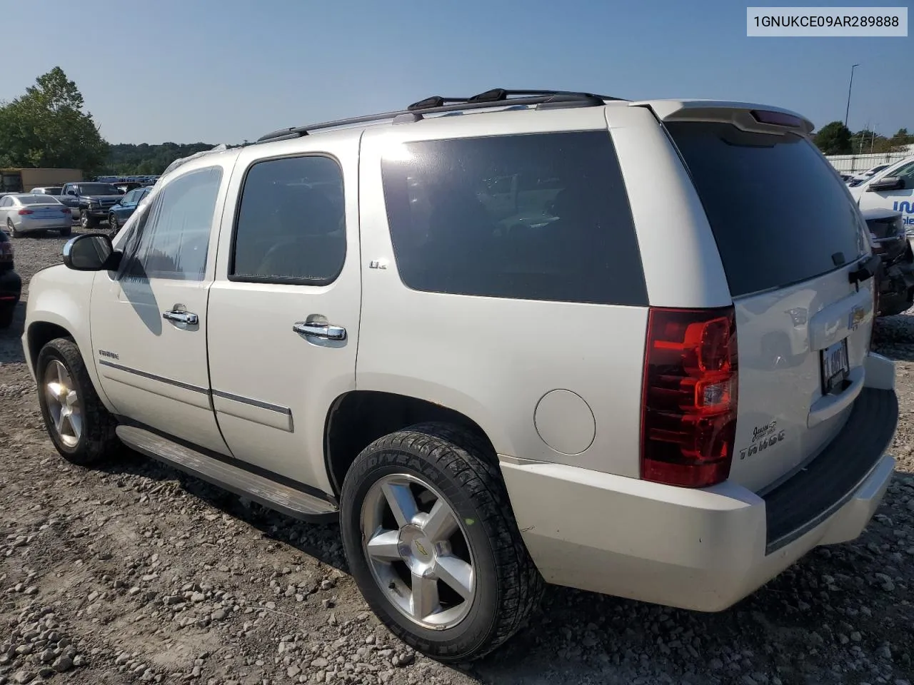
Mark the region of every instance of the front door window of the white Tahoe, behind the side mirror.
<instances>
[{"instance_id":1,"label":"front door window of the white Tahoe, behind the side mirror","mask_svg":"<svg viewBox=\"0 0 914 685\"><path fill-rule=\"evenodd\" d=\"M166 185L133 226L124 248L129 279L203 280L222 169L190 172Z\"/></svg>"}]
</instances>

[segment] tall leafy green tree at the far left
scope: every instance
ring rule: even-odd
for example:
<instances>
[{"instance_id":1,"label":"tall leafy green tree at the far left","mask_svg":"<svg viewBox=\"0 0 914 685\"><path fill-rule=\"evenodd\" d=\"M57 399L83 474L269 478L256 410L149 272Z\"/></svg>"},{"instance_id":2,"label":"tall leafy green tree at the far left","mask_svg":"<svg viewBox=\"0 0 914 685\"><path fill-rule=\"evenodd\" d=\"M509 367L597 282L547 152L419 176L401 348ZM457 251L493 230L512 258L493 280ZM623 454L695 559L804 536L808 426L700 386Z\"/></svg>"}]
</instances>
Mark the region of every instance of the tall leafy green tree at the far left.
<instances>
[{"instance_id":1,"label":"tall leafy green tree at the far left","mask_svg":"<svg viewBox=\"0 0 914 685\"><path fill-rule=\"evenodd\" d=\"M0 107L0 166L82 169L92 174L108 155L76 83L63 69L39 76L26 94Z\"/></svg>"}]
</instances>

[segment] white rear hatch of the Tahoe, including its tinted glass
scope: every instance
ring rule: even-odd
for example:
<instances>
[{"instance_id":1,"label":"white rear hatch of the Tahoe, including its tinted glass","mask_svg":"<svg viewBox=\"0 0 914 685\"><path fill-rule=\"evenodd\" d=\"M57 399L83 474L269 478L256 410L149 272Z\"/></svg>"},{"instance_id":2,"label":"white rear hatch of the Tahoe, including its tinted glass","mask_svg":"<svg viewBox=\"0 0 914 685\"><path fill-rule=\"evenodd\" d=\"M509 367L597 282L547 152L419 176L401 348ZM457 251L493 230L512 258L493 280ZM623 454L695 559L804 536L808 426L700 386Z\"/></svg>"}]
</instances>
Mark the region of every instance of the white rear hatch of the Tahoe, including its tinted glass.
<instances>
[{"instance_id":1,"label":"white rear hatch of the Tahoe, including its tinted glass","mask_svg":"<svg viewBox=\"0 0 914 685\"><path fill-rule=\"evenodd\" d=\"M749 114L664 124L705 207L736 310L730 479L763 491L844 426L863 385L873 279L849 278L869 244L840 177L800 132L753 126Z\"/></svg>"}]
</instances>

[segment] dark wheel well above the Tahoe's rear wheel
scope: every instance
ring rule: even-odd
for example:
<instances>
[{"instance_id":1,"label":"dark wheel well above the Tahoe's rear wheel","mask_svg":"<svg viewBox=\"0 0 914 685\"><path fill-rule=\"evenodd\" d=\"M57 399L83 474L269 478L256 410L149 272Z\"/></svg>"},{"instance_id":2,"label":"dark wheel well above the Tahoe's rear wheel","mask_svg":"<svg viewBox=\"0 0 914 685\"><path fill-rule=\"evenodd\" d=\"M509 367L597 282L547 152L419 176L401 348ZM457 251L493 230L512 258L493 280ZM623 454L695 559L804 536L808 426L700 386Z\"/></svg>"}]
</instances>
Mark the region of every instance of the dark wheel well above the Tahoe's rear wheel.
<instances>
[{"instance_id":1,"label":"dark wheel well above the Tahoe's rear wheel","mask_svg":"<svg viewBox=\"0 0 914 685\"><path fill-rule=\"evenodd\" d=\"M494 456L492 441L469 416L416 397L356 390L338 397L327 413L324 458L335 494L339 495L346 471L364 448L378 437L427 421L472 430L485 440Z\"/></svg>"}]
</instances>

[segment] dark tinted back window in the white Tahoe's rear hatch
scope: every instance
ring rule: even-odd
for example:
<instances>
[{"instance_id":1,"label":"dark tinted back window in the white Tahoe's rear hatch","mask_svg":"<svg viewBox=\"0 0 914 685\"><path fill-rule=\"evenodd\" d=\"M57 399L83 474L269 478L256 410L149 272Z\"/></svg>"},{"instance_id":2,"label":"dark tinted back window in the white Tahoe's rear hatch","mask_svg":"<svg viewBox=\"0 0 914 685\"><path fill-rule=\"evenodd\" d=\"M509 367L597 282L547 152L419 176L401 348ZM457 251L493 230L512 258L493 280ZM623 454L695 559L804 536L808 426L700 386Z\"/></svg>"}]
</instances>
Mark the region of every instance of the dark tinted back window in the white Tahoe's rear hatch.
<instances>
[{"instance_id":1,"label":"dark tinted back window in the white Tahoe's rear hatch","mask_svg":"<svg viewBox=\"0 0 914 685\"><path fill-rule=\"evenodd\" d=\"M811 142L727 123L666 128L705 206L733 297L812 279L866 251L854 201Z\"/></svg>"}]
</instances>

